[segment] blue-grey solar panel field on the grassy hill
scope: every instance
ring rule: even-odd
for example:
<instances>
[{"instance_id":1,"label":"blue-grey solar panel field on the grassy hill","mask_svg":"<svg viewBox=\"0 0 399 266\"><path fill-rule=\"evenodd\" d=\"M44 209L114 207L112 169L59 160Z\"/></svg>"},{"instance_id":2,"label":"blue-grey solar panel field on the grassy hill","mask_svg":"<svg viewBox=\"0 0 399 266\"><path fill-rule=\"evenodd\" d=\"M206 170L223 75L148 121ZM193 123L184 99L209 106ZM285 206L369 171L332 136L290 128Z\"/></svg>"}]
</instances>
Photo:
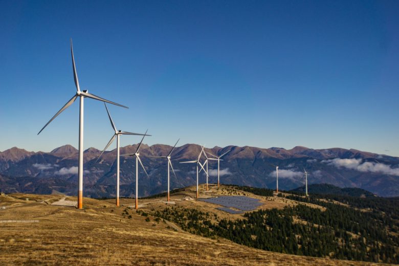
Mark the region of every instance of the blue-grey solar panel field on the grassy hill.
<instances>
[{"instance_id":1,"label":"blue-grey solar panel field on the grassy hill","mask_svg":"<svg viewBox=\"0 0 399 266\"><path fill-rule=\"evenodd\" d=\"M246 196L220 196L201 198L200 201L221 205L223 207L217 208L218 210L232 214L252 211L262 205L256 198ZM230 208L234 208L236 210Z\"/></svg>"}]
</instances>

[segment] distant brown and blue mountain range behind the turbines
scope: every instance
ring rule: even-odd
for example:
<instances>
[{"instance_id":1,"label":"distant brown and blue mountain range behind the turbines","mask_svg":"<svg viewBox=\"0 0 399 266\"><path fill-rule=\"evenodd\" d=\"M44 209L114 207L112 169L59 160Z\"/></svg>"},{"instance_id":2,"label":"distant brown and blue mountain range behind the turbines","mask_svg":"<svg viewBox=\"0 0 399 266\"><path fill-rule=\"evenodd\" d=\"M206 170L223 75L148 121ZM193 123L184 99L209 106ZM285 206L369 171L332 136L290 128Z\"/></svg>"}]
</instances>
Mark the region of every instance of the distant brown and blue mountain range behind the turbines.
<instances>
[{"instance_id":1,"label":"distant brown and blue mountain range behind the turbines","mask_svg":"<svg viewBox=\"0 0 399 266\"><path fill-rule=\"evenodd\" d=\"M120 148L121 154L134 153L136 145ZM140 155L149 178L139 170L139 196L148 196L166 190L166 160L148 156L165 156L169 145L143 144ZM332 184L338 187L357 187L379 196L399 196L399 158L355 149L311 149L297 146L293 149L257 147L206 148L212 154L230 151L220 162L220 182L274 189L275 167L279 166L279 188L295 189L303 186L303 168L309 184ZM195 164L179 164L194 160L201 146L186 144L176 147L172 163L171 189L195 184ZM88 148L84 151L84 195L91 197L115 196L116 149L104 152ZM203 160L205 158L203 157ZM134 195L134 159L121 157L120 194ZM51 152L32 152L13 147L0 152L0 190L6 193L65 193L75 195L77 188L78 150L71 145L55 148ZM209 182L217 180L217 163L209 162ZM205 183L201 173L200 183ZM312 193L312 190L309 191Z\"/></svg>"}]
</instances>

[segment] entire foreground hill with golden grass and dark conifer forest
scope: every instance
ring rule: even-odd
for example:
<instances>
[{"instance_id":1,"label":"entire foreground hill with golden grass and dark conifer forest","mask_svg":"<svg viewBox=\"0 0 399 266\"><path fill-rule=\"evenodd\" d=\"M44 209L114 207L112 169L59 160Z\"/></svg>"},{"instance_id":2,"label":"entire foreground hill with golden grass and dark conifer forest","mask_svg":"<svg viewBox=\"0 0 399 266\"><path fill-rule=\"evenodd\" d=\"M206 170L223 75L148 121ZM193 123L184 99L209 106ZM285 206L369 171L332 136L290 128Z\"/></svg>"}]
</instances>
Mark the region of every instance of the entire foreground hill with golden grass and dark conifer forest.
<instances>
[{"instance_id":1,"label":"entire foreground hill with golden grass and dark conifer forest","mask_svg":"<svg viewBox=\"0 0 399 266\"><path fill-rule=\"evenodd\" d=\"M0 264L363 265L369 263L353 261L359 258L395 262L393 259L397 254L397 216L395 216L397 209L391 209L385 206L386 204L377 202L374 209L366 209L362 206L351 207L348 198L333 199L327 196L306 199L301 195L285 193L272 196L271 191L236 186L221 186L220 189L211 186L210 191L205 192L202 185L200 189L201 197L247 195L258 198L263 205L254 212L228 214L217 210L217 205L196 201L195 187L172 193L171 200L175 205L166 205L164 195L141 199L139 212L133 209L134 200L129 198L121 199L121 207L115 207L112 199L84 198L85 210L77 210L73 207L51 205L64 198L63 195L9 194L0 197L0 208L6 207L0 209L0 220L14 220L13 223L0 223ZM26 201L26 198L29 198L29 201ZM76 201L76 198L66 197L65 200ZM353 217L362 215L359 213L368 213L364 217L375 220L375 223L369 221L370 226L379 226L383 222L387 224L383 229L382 227L375 229L378 235L367 232L368 227L359 226L356 220L353 224L357 223L358 227L353 226L353 230L346 228L343 232L341 227L346 227L345 224L337 225L329 231L328 219L323 218L323 215L329 213L331 208L329 204L336 206L335 211L339 210L339 213L344 213L346 210L341 210L341 207L351 210L351 213L356 214ZM383 210L378 211L378 208ZM379 216L378 213L383 211L388 215ZM302 217L305 213L307 216ZM276 219L272 222L268 217ZM277 217L282 217L284 223L280 223ZM385 220L379 221L379 219ZM38 222L15 223L17 220ZM335 221L334 218L331 220ZM290 234L291 229L286 230L290 226L293 226L293 230L299 231L295 231L294 235ZM314 244L306 242L314 237L305 232L308 229L314 235L334 232L335 238L328 236L329 240L326 242L323 242L321 234L318 239L336 250L351 243L353 250L364 248L365 257L351 257L351 261L348 261L331 259L337 257L334 252L328 255L320 252L320 254L304 254L300 251L302 246L313 245L314 249L317 247L316 242ZM254 231L251 230L260 231L253 234ZM239 232L244 233L243 237ZM277 240L281 233L283 237L291 237L291 242L296 241L295 239L301 242L297 248L293 247L291 250L284 246L286 241L270 242L270 239L260 241L268 232ZM334 243L331 237L332 240L339 239L339 242ZM364 245L360 244L359 239L362 239ZM351 241L360 246L354 245ZM267 245L268 242L271 244ZM263 246L257 246L256 243L259 245L263 243ZM377 255L370 253L375 249L372 243L376 243L378 247ZM388 251L384 251L384 247L392 247L393 250L387 248ZM387 254L393 252L394 255L392 258L387 258L384 252L388 252ZM369 258L368 253L373 257ZM342 256L348 258L348 254Z\"/></svg>"}]
</instances>

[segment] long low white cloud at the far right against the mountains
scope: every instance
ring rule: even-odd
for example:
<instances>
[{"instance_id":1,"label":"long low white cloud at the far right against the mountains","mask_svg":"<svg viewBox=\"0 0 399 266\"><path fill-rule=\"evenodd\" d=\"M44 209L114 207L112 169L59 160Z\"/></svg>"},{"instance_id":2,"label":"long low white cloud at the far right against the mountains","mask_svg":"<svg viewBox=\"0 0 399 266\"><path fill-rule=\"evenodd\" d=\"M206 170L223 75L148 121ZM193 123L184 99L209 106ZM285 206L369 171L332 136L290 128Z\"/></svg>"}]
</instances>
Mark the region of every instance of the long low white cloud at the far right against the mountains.
<instances>
[{"instance_id":1,"label":"long low white cloud at the far right against the mountains","mask_svg":"<svg viewBox=\"0 0 399 266\"><path fill-rule=\"evenodd\" d=\"M372 172L372 173L383 173L390 175L398 175L399 176L399 168L391 168L390 165L381 164L377 162L364 162L362 163L362 159L330 159L323 160L322 163L326 163L328 165L333 165L337 168L344 167L347 169L357 170L360 172Z\"/></svg>"}]
</instances>

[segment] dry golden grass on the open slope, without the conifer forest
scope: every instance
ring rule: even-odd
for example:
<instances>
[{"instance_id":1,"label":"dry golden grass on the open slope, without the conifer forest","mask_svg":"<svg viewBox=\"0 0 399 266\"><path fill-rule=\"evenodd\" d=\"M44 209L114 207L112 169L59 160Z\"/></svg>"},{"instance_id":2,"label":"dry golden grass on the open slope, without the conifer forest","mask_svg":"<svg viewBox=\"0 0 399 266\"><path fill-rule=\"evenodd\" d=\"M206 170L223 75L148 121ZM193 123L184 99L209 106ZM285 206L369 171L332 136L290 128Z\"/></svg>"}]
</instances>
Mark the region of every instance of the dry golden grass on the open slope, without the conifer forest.
<instances>
[{"instance_id":1,"label":"dry golden grass on the open slope, without the conifer forest","mask_svg":"<svg viewBox=\"0 0 399 266\"><path fill-rule=\"evenodd\" d=\"M202 186L203 189L203 186ZM212 192L216 195L215 192ZM221 193L221 192L220 192ZM204 194L204 193L202 193ZM207 193L208 194L208 193ZM247 195L250 193L246 193ZM215 205L182 201L195 195L192 188L172 195L177 206L212 211ZM41 203L61 198L58 195L0 197L0 220L39 220L39 223L0 224L0 265L363 265L363 262L301 257L267 252L237 245L223 238L210 239L167 228L161 220L150 222L125 206L115 207L113 200L84 198L85 211ZM30 201L23 200L30 198ZM72 200L76 198L70 197ZM68 200L68 198L67 198ZM141 200L144 210L164 208L165 198ZM180 200L180 201L179 201ZM276 202L265 200L265 206ZM124 199L122 204L134 200ZM278 203L282 204L282 203ZM127 209L128 215L122 212ZM230 215L229 218L241 217Z\"/></svg>"}]
</instances>

